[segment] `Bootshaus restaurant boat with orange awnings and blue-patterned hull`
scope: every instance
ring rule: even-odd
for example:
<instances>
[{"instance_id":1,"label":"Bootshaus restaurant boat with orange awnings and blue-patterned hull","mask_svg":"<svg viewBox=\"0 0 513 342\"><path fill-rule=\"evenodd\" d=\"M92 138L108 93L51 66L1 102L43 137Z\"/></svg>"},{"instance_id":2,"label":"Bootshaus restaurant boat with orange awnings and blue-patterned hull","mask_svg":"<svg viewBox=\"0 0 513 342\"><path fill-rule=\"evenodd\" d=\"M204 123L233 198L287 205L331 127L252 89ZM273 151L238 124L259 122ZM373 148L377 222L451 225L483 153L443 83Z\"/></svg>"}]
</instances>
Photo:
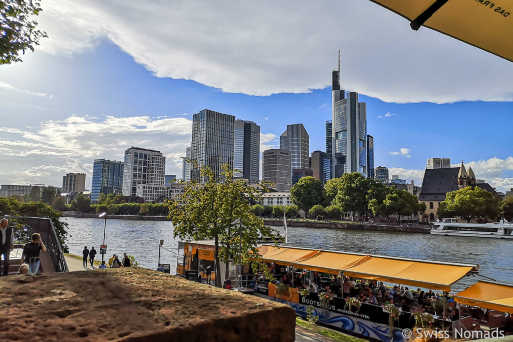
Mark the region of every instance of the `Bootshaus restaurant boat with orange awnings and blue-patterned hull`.
<instances>
[{"instance_id":1,"label":"Bootshaus restaurant boat with orange awnings and blue-patterned hull","mask_svg":"<svg viewBox=\"0 0 513 342\"><path fill-rule=\"evenodd\" d=\"M327 279L328 284L333 281L333 278L334 281L337 281L340 276L350 276L358 279L383 281L388 284L449 292L451 286L463 277L479 274L479 265L472 264L443 263L270 244L263 244L258 249L263 261L269 266L285 267L291 272L301 273L310 281L314 278L314 273L318 273L326 276L323 279ZM177 274L190 280L196 280L199 274L205 281L205 270L208 267L214 269L213 242L181 242L179 254L181 250L183 251L183 260L177 263ZM404 326L401 319L397 321L392 319L394 323L390 324L389 317L392 313L384 308L386 299L380 300L379 305L368 303L354 305L354 302L336 296L330 299L328 305L325 305L322 303L320 293L313 291L306 293L306 291L298 291L293 286L283 287L271 284L259 279L258 275L251 274L247 266L243 267L242 280L238 280L239 273L236 263L230 263L229 268L229 280L232 281L232 287L240 287L240 290L251 292L255 296L287 304L301 317L308 316L311 306L313 314L319 317L319 323L352 335L371 340L403 342L405 341L402 334L403 329L412 328L412 326ZM221 265L221 271L221 274L224 274L224 265ZM333 277L331 280L328 278L330 275ZM479 280L477 284L455 295L452 302L461 306L461 316L451 321L445 315L444 304L444 313L438 312L437 315L435 312L433 315L432 327L443 329L443 331L451 331L451 327L460 329L458 330L460 332L472 331L473 324L477 324L477 321L475 317L471 316L471 310L464 310L469 305L487 308L489 311L486 313L486 319L491 323L486 323L486 320L483 323L481 320L480 324L497 327L504 324L506 319L511 320L513 286ZM506 313L509 314L509 318ZM403 311L400 315L405 318L403 321L411 321L410 318L413 314Z\"/></svg>"}]
</instances>

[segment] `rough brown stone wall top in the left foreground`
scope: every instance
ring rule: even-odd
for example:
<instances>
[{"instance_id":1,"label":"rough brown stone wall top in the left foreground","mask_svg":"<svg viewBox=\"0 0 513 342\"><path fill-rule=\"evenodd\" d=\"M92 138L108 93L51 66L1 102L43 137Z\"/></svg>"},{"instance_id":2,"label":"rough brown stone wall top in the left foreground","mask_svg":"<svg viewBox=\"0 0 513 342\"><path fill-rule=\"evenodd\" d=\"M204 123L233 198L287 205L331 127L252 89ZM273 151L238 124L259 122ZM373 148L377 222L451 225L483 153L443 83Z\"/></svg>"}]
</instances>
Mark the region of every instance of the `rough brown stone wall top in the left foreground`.
<instances>
[{"instance_id":1,"label":"rough brown stone wall top in the left foreground","mask_svg":"<svg viewBox=\"0 0 513 342\"><path fill-rule=\"evenodd\" d=\"M0 278L2 341L293 341L295 313L140 268Z\"/></svg>"}]
</instances>

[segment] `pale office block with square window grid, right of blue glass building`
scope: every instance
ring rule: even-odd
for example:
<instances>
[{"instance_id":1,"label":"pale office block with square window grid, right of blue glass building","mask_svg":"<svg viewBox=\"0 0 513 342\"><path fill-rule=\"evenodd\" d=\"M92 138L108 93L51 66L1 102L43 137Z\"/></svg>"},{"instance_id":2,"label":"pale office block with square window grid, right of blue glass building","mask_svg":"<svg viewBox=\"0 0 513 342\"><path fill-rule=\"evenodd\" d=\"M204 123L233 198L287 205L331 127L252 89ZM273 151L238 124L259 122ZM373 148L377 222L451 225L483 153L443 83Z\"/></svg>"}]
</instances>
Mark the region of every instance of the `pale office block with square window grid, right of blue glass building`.
<instances>
[{"instance_id":1,"label":"pale office block with square window grid, right of blue glass building","mask_svg":"<svg viewBox=\"0 0 513 342\"><path fill-rule=\"evenodd\" d=\"M146 196L148 190L155 190L153 187L164 187L164 172L166 169L166 157L160 151L131 147L125 151L125 162L123 169L123 195L140 196L145 201L150 201L154 196ZM137 186L152 186L152 189ZM139 194L137 194L139 192ZM160 190L163 192L163 190Z\"/></svg>"}]
</instances>

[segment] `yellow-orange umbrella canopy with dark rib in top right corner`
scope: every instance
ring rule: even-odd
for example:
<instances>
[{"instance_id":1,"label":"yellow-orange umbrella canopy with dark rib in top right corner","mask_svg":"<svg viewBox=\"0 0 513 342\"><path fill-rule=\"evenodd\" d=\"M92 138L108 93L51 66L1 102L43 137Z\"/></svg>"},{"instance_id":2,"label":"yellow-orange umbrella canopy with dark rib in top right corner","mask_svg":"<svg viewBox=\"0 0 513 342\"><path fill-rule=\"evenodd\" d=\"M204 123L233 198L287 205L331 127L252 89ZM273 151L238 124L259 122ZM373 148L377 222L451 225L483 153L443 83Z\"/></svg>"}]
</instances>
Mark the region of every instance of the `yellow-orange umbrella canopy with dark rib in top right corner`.
<instances>
[{"instance_id":1,"label":"yellow-orange umbrella canopy with dark rib in top right corner","mask_svg":"<svg viewBox=\"0 0 513 342\"><path fill-rule=\"evenodd\" d=\"M408 19L513 62L513 0L371 0Z\"/></svg>"}]
</instances>

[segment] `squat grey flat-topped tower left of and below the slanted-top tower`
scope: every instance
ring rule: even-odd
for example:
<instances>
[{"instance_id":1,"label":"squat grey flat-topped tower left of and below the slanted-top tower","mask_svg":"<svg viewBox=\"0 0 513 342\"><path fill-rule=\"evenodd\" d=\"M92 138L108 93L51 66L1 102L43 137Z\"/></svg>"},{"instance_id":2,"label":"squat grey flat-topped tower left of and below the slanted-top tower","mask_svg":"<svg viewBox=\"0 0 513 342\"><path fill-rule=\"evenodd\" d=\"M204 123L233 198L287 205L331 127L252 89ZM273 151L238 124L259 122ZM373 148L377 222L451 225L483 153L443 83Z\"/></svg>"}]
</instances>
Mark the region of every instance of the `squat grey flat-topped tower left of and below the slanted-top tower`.
<instances>
[{"instance_id":1,"label":"squat grey flat-topped tower left of and below the slanted-top tower","mask_svg":"<svg viewBox=\"0 0 513 342\"><path fill-rule=\"evenodd\" d=\"M272 182L278 191L290 191L290 152L280 149L262 153L262 180Z\"/></svg>"}]
</instances>

